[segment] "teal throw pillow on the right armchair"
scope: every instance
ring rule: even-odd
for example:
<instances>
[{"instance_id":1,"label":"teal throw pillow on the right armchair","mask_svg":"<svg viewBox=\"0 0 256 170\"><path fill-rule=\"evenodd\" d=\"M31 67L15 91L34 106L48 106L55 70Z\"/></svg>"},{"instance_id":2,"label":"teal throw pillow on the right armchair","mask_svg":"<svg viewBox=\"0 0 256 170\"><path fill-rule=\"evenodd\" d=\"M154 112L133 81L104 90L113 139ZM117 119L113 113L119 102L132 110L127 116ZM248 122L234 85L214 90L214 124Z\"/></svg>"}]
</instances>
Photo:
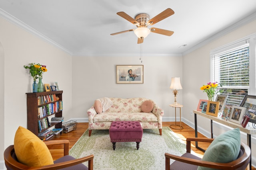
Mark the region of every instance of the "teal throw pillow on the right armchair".
<instances>
[{"instance_id":1,"label":"teal throw pillow on the right armchair","mask_svg":"<svg viewBox=\"0 0 256 170\"><path fill-rule=\"evenodd\" d=\"M240 151L241 139L239 128L222 133L206 149L202 160L227 163L236 160ZM215 170L198 166L197 170Z\"/></svg>"}]
</instances>

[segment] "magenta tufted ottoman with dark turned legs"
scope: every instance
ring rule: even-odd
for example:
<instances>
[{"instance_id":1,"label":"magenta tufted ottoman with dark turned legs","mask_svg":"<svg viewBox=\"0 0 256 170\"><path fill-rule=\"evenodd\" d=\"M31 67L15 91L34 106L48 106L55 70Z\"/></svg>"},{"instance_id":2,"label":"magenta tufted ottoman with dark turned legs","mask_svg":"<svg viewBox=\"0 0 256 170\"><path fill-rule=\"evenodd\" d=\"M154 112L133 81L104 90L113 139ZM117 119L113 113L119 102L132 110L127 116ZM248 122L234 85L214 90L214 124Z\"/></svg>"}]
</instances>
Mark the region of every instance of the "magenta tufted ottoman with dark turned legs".
<instances>
[{"instance_id":1,"label":"magenta tufted ottoman with dark turned legs","mask_svg":"<svg viewBox=\"0 0 256 170\"><path fill-rule=\"evenodd\" d=\"M109 128L110 141L113 149L116 149L116 142L136 142L137 150L140 147L143 129L138 121L113 121Z\"/></svg>"}]
</instances>

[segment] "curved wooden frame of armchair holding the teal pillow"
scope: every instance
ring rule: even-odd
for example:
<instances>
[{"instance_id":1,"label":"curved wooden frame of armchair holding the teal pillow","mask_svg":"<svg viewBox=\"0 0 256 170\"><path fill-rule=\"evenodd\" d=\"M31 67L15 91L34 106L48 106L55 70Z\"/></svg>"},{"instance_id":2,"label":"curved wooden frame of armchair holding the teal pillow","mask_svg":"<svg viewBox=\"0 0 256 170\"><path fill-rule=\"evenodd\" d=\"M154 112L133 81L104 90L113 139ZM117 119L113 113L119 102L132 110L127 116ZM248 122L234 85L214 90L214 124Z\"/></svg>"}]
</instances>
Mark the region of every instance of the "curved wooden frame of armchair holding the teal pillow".
<instances>
[{"instance_id":1,"label":"curved wooden frame of armchair holding the teal pillow","mask_svg":"<svg viewBox=\"0 0 256 170\"><path fill-rule=\"evenodd\" d=\"M191 152L191 141L198 141L198 142L212 142L214 139L209 138L187 138L186 139L186 152ZM173 154L165 153L165 168L166 170L170 170L170 159L178 160L180 162L194 164L197 166L204 166L208 168L216 168L222 170L236 170L237 168L244 166L246 167L250 162L250 155L251 150L246 144L241 143L241 148L244 154L240 156L238 159L228 162L228 163L217 163L217 162L208 162L202 160L196 160L192 158L185 158L182 156L176 156Z\"/></svg>"}]
</instances>

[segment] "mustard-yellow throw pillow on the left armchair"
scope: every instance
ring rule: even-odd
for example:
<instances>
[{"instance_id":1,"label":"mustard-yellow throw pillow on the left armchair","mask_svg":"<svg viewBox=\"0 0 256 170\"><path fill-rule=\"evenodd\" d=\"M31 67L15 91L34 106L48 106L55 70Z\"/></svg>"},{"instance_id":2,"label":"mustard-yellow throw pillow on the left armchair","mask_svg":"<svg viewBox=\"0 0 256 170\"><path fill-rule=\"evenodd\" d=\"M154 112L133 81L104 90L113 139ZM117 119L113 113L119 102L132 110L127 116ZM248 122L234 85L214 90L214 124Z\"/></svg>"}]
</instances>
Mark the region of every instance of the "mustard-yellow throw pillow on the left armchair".
<instances>
[{"instance_id":1,"label":"mustard-yellow throw pillow on the left armchair","mask_svg":"<svg viewBox=\"0 0 256 170\"><path fill-rule=\"evenodd\" d=\"M45 143L24 127L18 127L14 137L14 150L20 163L27 166L53 164L52 155Z\"/></svg>"}]
</instances>

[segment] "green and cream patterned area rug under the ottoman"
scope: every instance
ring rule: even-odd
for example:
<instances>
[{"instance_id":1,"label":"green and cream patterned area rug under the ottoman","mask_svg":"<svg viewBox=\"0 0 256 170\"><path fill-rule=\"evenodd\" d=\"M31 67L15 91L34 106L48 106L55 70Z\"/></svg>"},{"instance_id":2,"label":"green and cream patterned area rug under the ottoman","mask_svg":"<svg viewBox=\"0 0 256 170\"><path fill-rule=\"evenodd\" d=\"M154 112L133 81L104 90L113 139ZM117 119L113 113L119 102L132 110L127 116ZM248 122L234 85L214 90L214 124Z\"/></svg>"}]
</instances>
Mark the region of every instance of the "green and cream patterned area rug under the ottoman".
<instances>
[{"instance_id":1,"label":"green and cream patterned area rug under the ottoman","mask_svg":"<svg viewBox=\"0 0 256 170\"><path fill-rule=\"evenodd\" d=\"M117 142L113 150L108 130L92 130L88 137L87 129L69 154L75 158L93 154L94 170L164 170L165 152L179 156L186 152L185 143L169 127L163 127L162 136L158 129L143 129L138 150L136 142Z\"/></svg>"}]
</instances>

